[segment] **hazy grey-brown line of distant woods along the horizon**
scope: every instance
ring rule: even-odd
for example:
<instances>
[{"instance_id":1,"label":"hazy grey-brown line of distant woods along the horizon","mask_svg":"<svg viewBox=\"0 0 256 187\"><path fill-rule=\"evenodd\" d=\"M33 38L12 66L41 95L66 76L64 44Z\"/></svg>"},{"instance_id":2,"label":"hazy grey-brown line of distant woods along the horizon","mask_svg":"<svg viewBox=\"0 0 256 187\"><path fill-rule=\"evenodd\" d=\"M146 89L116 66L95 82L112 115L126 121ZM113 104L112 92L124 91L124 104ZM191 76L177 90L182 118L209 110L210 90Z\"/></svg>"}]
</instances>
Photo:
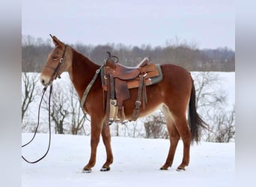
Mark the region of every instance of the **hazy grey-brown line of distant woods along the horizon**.
<instances>
[{"instance_id":1,"label":"hazy grey-brown line of distant woods along the horizon","mask_svg":"<svg viewBox=\"0 0 256 187\"><path fill-rule=\"evenodd\" d=\"M69 43L67 43L69 44ZM156 64L177 64L189 71L235 71L235 52L228 47L218 49L198 49L186 40L167 40L165 46L126 46L122 43L105 45L69 44L96 64L103 64L106 51L118 56L120 63L136 66L144 57ZM22 35L22 72L41 72L49 52L53 49L52 40Z\"/></svg>"}]
</instances>

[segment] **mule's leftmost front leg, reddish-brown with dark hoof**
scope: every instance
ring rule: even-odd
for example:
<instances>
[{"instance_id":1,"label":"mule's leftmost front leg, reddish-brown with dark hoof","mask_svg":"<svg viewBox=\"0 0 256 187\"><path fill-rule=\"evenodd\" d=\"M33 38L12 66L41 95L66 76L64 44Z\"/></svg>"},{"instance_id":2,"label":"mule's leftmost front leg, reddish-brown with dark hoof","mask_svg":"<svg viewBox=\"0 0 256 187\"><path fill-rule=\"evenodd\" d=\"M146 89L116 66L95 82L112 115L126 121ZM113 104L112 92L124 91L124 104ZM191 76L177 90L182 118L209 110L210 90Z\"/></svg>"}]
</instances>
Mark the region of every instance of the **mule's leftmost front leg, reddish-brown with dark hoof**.
<instances>
[{"instance_id":1,"label":"mule's leftmost front leg, reddish-brown with dark hoof","mask_svg":"<svg viewBox=\"0 0 256 187\"><path fill-rule=\"evenodd\" d=\"M102 120L97 117L91 117L91 157L87 165L85 165L83 171L86 173L91 172L91 168L94 167L97 155L97 146L100 141L100 132L103 126Z\"/></svg>"}]
</instances>

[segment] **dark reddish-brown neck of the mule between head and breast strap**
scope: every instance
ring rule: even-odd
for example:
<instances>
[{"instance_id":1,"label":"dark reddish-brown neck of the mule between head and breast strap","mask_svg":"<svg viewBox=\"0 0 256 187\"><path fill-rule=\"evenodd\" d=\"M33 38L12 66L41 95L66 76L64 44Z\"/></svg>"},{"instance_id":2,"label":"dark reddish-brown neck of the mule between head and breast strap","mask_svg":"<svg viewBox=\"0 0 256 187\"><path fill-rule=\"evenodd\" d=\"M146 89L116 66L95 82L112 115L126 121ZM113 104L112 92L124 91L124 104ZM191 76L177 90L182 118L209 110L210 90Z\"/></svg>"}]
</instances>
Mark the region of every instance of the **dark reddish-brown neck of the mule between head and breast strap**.
<instances>
[{"instance_id":1,"label":"dark reddish-brown neck of the mule between head and breast strap","mask_svg":"<svg viewBox=\"0 0 256 187\"><path fill-rule=\"evenodd\" d=\"M72 76L71 81L79 95L79 98L82 98L82 94L85 91L85 88L93 79L96 70L100 67L97 64L94 64L84 55L73 51L73 58L72 58Z\"/></svg>"}]
</instances>

